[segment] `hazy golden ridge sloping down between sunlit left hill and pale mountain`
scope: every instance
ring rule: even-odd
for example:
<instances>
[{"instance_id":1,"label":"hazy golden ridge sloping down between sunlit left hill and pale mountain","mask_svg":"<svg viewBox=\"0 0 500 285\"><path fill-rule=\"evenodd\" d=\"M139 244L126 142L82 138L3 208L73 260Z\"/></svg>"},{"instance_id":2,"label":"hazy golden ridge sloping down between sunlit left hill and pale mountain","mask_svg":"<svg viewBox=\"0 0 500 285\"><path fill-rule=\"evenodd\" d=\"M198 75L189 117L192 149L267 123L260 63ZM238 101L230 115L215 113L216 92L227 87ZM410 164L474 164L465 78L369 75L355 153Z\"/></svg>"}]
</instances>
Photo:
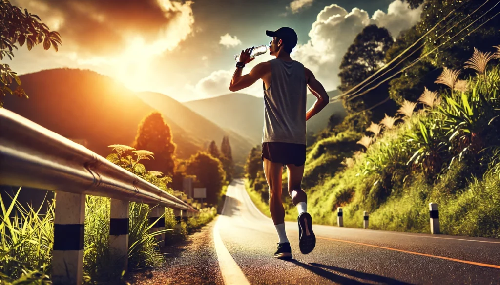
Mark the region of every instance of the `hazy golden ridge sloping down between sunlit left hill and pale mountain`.
<instances>
[{"instance_id":1,"label":"hazy golden ridge sloping down between sunlit left hill and pale mountain","mask_svg":"<svg viewBox=\"0 0 500 285\"><path fill-rule=\"evenodd\" d=\"M205 117L193 112L190 108L166 95L154 92L140 92L137 93L137 96L162 113L164 117L170 118L192 137L199 138L205 142L214 140L217 147L220 148L222 137L228 136L235 162L244 162L248 152L255 144L249 138L244 138L237 133L222 129L212 121L207 120Z\"/></svg>"}]
</instances>

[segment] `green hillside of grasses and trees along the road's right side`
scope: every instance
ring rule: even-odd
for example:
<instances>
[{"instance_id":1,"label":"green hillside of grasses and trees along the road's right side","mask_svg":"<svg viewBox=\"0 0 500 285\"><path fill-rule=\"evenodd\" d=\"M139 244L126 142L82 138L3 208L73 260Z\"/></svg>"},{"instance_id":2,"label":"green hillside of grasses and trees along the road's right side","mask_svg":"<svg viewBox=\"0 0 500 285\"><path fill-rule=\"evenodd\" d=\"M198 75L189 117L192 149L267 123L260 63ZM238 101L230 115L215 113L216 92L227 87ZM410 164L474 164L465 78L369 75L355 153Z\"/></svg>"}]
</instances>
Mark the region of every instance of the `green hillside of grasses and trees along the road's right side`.
<instances>
[{"instance_id":1,"label":"green hillside of grasses and trees along the road's right side","mask_svg":"<svg viewBox=\"0 0 500 285\"><path fill-rule=\"evenodd\" d=\"M344 226L361 228L367 211L371 229L429 233L433 202L443 234L500 238L498 20L474 24L487 11L474 1L413 2L423 2L421 20L392 44L386 30L367 26L345 54L339 88L348 93L342 97L348 115L307 147L302 187L308 212L315 223L336 225L342 207ZM451 11L463 19L453 31L439 22ZM436 32L425 34L433 26ZM410 46L420 37L420 49ZM412 55L399 56L406 48ZM378 62L356 64L371 63L366 54ZM378 80L384 82L363 92L349 91L394 58L416 64L399 76L388 70ZM246 186L268 213L261 164L255 147L245 166ZM286 219L295 221L283 172Z\"/></svg>"}]
</instances>

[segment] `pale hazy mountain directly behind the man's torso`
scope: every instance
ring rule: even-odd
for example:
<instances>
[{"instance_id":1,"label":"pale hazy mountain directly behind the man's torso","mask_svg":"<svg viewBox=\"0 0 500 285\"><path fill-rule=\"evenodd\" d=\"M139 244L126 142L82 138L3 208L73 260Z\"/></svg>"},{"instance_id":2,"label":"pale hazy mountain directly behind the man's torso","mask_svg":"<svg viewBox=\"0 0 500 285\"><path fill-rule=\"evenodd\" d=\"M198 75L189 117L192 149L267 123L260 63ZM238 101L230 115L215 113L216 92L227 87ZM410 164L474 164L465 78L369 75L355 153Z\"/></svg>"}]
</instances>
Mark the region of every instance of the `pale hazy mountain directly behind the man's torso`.
<instances>
[{"instance_id":1,"label":"pale hazy mountain directly behind the man's torso","mask_svg":"<svg viewBox=\"0 0 500 285\"><path fill-rule=\"evenodd\" d=\"M339 94L337 90L327 92L329 97ZM307 110L316 97L307 94ZM259 143L262 139L264 102L262 98L243 93L229 93L218 97L188 101L184 105L215 124L229 128L241 136L247 136ZM307 132L317 133L328 122L332 114L345 116L342 103L328 104L323 110L307 121Z\"/></svg>"}]
</instances>

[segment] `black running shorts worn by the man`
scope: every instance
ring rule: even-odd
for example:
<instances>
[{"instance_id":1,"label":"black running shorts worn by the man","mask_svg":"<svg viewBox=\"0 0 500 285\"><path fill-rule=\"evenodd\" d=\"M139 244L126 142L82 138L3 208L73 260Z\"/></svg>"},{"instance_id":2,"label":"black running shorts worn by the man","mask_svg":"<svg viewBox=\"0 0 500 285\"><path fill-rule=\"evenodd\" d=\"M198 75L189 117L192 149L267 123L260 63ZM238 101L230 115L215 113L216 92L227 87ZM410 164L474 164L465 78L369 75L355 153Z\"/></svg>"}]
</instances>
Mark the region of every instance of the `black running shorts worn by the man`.
<instances>
[{"instance_id":1,"label":"black running shorts worn by the man","mask_svg":"<svg viewBox=\"0 0 500 285\"><path fill-rule=\"evenodd\" d=\"M281 164L302 166L305 163L305 145L296 143L262 143L262 161L265 159Z\"/></svg>"}]
</instances>

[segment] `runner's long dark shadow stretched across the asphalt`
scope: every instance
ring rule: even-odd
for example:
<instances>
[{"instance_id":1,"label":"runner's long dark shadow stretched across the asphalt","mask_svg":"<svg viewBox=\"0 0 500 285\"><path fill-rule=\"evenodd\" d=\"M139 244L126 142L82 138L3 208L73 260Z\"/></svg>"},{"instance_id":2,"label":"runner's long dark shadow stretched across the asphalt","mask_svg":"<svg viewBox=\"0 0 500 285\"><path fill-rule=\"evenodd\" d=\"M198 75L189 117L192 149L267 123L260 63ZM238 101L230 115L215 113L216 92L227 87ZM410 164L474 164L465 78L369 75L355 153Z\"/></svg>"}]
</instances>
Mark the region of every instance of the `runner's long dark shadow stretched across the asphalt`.
<instances>
[{"instance_id":1,"label":"runner's long dark shadow stretched across the asphalt","mask_svg":"<svg viewBox=\"0 0 500 285\"><path fill-rule=\"evenodd\" d=\"M295 264L295 265L298 265L298 266L300 266L300 267L302 267L302 268L304 268L312 273L315 273L321 277L324 277L330 281L336 282L338 284L349 284L349 285L354 284L355 285L355 284L372 284L372 282L379 282L379 283L389 284L389 285L391 285L391 284L393 284L393 285L396 285L396 284L397 285L411 285L411 283L401 282L401 281L398 281L398 280L395 280L392 278L383 277L383 276L379 276L379 275L375 275L375 274L362 273L362 272L358 272L358 271L354 271L354 270L343 269L343 268L334 267L334 266L327 266L327 265L318 264L318 263L305 264L305 263L301 263L295 259L291 259L288 261ZM327 270L324 270L323 268L327 269ZM338 273L342 273L345 275L349 275L353 278L361 279L361 280L364 280L365 282L370 282L370 283L364 283L361 281L357 281L355 279L343 277L343 276L334 274L334 273L330 272L329 270L335 271Z\"/></svg>"}]
</instances>

